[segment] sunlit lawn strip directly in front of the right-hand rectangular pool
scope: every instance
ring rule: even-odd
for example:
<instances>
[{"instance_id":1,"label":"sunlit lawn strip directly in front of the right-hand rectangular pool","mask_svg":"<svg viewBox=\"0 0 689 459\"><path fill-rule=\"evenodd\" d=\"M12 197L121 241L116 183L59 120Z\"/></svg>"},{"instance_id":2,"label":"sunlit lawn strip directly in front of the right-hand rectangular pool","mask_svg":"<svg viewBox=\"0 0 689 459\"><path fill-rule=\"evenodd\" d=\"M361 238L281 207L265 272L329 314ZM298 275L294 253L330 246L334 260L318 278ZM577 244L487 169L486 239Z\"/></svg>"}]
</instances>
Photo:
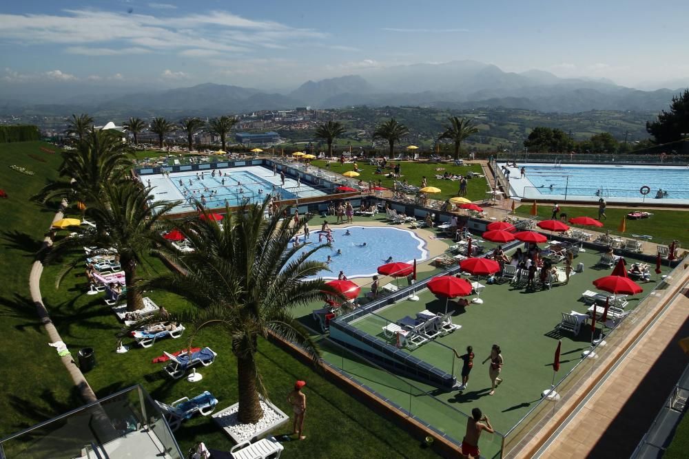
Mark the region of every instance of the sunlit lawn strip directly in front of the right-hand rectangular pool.
<instances>
[{"instance_id":1,"label":"sunlit lawn strip directly in front of the right-hand rectangular pool","mask_svg":"<svg viewBox=\"0 0 689 459\"><path fill-rule=\"evenodd\" d=\"M546 220L551 217L552 205L537 206L538 217L541 220ZM561 212L566 213L569 217L593 217L598 218L598 206L560 206ZM650 212L653 215L650 218L641 220L626 219L626 232L623 234L617 231L622 219L632 211L632 209L606 209L608 220L603 220L604 226L602 228L593 228L596 231L610 231L611 234L624 235L624 237L633 237L632 235L651 235L652 242L657 244L670 244L673 239L677 239L682 247L689 246L689 212L677 210L661 210L661 209L638 209L634 211ZM518 215L531 215L531 203L523 204L516 209Z\"/></svg>"}]
</instances>

